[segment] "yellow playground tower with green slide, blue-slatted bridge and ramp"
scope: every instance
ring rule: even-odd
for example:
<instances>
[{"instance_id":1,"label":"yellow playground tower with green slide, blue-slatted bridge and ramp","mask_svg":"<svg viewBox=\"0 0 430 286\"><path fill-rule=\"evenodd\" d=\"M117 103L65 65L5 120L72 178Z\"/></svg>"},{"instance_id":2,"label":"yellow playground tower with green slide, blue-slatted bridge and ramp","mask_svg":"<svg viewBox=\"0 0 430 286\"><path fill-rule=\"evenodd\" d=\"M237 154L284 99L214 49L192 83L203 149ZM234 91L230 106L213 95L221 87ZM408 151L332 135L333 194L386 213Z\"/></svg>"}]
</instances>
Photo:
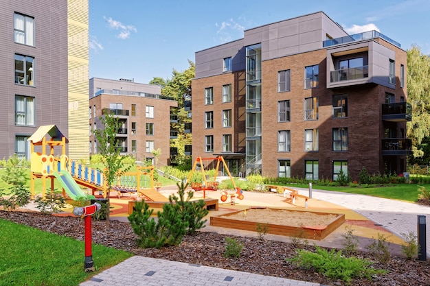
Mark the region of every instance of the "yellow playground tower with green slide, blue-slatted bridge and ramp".
<instances>
[{"instance_id":1,"label":"yellow playground tower with green slide, blue-slatted bridge and ramp","mask_svg":"<svg viewBox=\"0 0 430 286\"><path fill-rule=\"evenodd\" d=\"M47 140L47 136L50 137ZM50 181L51 191L54 191L54 178L63 187L63 196L69 195L72 200L84 197L85 200L95 198L95 192L102 193L106 198L106 180L104 174L98 169L87 167L83 164L70 161L66 155L67 138L55 125L40 126L30 136L31 151L31 182L30 189L34 198L34 182L42 180L42 196L45 198L47 180ZM41 152L36 152L36 147ZM54 148L60 147L60 153L55 154ZM87 195L80 188L91 189L92 195ZM122 193L134 193L135 196L144 196L146 200L167 199L155 191L154 188L154 166L137 167L137 171L128 172L118 176L111 192L116 192L117 197ZM130 195L132 197L132 195Z\"/></svg>"}]
</instances>

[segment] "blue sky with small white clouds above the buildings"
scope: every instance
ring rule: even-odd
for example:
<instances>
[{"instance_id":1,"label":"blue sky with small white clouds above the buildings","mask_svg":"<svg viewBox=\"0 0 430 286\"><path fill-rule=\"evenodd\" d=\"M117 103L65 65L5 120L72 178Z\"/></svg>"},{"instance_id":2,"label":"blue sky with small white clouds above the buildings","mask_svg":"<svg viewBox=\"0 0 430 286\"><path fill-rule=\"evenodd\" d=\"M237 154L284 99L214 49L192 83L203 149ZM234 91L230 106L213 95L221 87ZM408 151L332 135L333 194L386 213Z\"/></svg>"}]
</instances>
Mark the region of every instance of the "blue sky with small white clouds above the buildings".
<instances>
[{"instance_id":1,"label":"blue sky with small white clouds above the buildings","mask_svg":"<svg viewBox=\"0 0 430 286\"><path fill-rule=\"evenodd\" d=\"M90 0L90 78L172 78L194 53L260 25L323 11L349 34L376 29L430 54L429 0Z\"/></svg>"}]
</instances>

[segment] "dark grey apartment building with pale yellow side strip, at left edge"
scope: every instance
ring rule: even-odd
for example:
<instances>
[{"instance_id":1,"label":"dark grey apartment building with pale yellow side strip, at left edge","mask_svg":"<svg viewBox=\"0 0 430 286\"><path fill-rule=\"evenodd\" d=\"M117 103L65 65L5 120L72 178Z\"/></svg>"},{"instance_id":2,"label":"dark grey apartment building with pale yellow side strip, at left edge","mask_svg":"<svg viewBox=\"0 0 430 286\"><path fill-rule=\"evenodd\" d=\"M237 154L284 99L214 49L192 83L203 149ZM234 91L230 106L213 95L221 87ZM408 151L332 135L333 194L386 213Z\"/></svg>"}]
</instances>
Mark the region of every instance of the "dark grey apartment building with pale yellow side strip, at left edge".
<instances>
[{"instance_id":1,"label":"dark grey apartment building with pale yellow side strip, at left edge","mask_svg":"<svg viewBox=\"0 0 430 286\"><path fill-rule=\"evenodd\" d=\"M51 124L88 158L88 126L74 122L88 108L88 0L2 1L0 27L0 158L30 158L27 138Z\"/></svg>"}]
</instances>

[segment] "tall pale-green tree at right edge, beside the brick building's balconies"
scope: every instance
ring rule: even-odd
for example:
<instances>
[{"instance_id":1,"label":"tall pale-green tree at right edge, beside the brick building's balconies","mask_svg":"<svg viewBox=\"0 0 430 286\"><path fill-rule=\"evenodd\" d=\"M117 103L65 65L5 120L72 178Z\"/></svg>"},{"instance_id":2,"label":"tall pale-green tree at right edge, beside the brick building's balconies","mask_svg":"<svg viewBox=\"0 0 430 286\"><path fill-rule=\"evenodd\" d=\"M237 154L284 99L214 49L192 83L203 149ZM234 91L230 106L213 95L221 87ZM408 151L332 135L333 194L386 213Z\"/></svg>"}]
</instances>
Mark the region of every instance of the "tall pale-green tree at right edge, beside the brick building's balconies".
<instances>
[{"instance_id":1,"label":"tall pale-green tree at right edge, beside the brick building's balconies","mask_svg":"<svg viewBox=\"0 0 430 286\"><path fill-rule=\"evenodd\" d=\"M412 106L407 136L412 140L413 156L422 157L420 144L430 136L430 58L417 46L407 51L407 102Z\"/></svg>"}]
</instances>

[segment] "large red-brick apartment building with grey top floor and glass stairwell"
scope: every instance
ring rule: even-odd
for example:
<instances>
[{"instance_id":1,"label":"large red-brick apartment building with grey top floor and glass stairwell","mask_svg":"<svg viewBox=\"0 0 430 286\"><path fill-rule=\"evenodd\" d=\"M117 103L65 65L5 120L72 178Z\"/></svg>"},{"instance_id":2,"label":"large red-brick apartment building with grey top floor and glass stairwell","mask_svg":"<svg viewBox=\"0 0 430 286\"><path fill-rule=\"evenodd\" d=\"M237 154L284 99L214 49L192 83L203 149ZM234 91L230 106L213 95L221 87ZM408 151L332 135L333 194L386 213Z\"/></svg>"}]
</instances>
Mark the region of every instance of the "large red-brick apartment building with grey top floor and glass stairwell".
<instances>
[{"instance_id":1,"label":"large red-brick apartment building with grey top floor and glass stairwell","mask_svg":"<svg viewBox=\"0 0 430 286\"><path fill-rule=\"evenodd\" d=\"M380 32L349 35L316 12L247 29L195 62L193 157L309 180L405 171L407 53Z\"/></svg>"}]
</instances>

